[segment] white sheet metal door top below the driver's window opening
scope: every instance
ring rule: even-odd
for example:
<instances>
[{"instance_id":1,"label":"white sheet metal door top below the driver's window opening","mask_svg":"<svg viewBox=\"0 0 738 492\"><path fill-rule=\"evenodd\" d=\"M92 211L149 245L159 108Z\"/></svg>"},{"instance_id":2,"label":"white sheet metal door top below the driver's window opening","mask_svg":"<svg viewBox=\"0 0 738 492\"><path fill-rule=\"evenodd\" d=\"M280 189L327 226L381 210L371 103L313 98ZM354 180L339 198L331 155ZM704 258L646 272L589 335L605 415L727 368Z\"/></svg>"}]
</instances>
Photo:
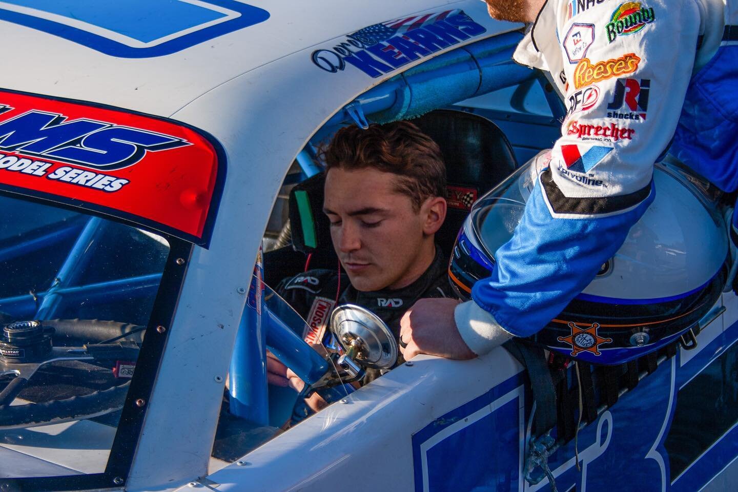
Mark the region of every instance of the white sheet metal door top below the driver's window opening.
<instances>
[{"instance_id":1,"label":"white sheet metal door top below the driver's window opening","mask_svg":"<svg viewBox=\"0 0 738 492\"><path fill-rule=\"evenodd\" d=\"M224 492L415 490L413 433L520 370L501 347L474 361L418 356L208 479Z\"/></svg>"}]
</instances>

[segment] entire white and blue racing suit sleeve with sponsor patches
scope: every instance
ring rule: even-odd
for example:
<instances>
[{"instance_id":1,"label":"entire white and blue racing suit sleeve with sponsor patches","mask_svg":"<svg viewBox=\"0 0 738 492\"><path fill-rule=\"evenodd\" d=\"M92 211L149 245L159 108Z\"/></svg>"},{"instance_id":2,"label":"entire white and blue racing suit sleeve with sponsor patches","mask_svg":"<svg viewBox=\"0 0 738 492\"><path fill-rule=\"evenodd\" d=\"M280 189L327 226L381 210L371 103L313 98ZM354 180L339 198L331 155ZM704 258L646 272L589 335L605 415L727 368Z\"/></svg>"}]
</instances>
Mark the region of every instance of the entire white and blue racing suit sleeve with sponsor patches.
<instances>
[{"instance_id":1,"label":"entire white and blue racing suit sleeve with sponsor patches","mask_svg":"<svg viewBox=\"0 0 738 492\"><path fill-rule=\"evenodd\" d=\"M674 134L699 30L692 0L545 5L529 46L568 80L568 114L492 276L472 289L490 322L536 333L620 248L655 196L653 164ZM476 353L492 348L472 346L475 328L457 325Z\"/></svg>"}]
</instances>

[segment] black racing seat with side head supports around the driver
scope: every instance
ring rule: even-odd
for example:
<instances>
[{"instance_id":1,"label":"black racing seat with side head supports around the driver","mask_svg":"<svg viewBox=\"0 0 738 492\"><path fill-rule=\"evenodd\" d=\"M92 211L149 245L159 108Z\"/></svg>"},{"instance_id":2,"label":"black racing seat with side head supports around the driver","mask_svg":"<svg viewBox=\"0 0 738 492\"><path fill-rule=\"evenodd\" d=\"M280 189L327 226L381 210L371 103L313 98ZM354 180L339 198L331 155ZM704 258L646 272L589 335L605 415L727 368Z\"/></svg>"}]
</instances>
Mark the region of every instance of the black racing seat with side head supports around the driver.
<instances>
[{"instance_id":1,"label":"black racing seat with side head supports around the driver","mask_svg":"<svg viewBox=\"0 0 738 492\"><path fill-rule=\"evenodd\" d=\"M412 121L438 143L446 162L449 209L444 225L436 233L436 242L448 256L474 201L509 176L517 162L503 131L477 114L441 109ZM308 254L312 255L309 268L337 268L330 224L323 214L324 183L325 175L321 173L292 189L289 219L294 251L286 246L264 255L269 285L303 271Z\"/></svg>"}]
</instances>

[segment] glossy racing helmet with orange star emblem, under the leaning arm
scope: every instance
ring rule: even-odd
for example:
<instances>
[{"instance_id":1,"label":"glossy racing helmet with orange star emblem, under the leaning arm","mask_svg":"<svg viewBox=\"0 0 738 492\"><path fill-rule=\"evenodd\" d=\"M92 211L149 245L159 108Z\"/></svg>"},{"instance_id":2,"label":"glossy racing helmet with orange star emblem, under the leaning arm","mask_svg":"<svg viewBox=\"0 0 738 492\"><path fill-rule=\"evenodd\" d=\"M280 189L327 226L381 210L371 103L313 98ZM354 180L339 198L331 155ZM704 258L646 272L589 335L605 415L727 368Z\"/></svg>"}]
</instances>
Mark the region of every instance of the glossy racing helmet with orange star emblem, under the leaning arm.
<instances>
[{"instance_id":1,"label":"glossy racing helmet with orange star emblem, under the leaning arm","mask_svg":"<svg viewBox=\"0 0 738 492\"><path fill-rule=\"evenodd\" d=\"M489 277L494 252L523 217L537 159L483 195L466 218L449 262L462 299ZM683 164L656 164L654 180L655 201L623 246L534 342L576 360L622 364L698 331L728 276L725 221L715 188Z\"/></svg>"}]
</instances>

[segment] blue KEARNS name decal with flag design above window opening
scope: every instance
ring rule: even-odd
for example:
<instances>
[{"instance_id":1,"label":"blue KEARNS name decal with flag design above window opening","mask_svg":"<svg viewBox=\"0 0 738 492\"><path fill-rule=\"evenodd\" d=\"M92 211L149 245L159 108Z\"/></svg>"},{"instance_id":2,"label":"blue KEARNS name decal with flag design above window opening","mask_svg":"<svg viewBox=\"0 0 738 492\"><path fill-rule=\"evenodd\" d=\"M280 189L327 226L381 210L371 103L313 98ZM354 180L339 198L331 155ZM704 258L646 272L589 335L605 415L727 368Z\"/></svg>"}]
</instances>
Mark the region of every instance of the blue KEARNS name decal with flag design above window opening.
<instances>
[{"instance_id":1,"label":"blue KEARNS name decal with flag design above window opening","mask_svg":"<svg viewBox=\"0 0 738 492\"><path fill-rule=\"evenodd\" d=\"M379 77L483 32L485 27L459 9L413 15L353 32L334 46L315 50L311 60L325 72L342 72L353 65Z\"/></svg>"}]
</instances>

